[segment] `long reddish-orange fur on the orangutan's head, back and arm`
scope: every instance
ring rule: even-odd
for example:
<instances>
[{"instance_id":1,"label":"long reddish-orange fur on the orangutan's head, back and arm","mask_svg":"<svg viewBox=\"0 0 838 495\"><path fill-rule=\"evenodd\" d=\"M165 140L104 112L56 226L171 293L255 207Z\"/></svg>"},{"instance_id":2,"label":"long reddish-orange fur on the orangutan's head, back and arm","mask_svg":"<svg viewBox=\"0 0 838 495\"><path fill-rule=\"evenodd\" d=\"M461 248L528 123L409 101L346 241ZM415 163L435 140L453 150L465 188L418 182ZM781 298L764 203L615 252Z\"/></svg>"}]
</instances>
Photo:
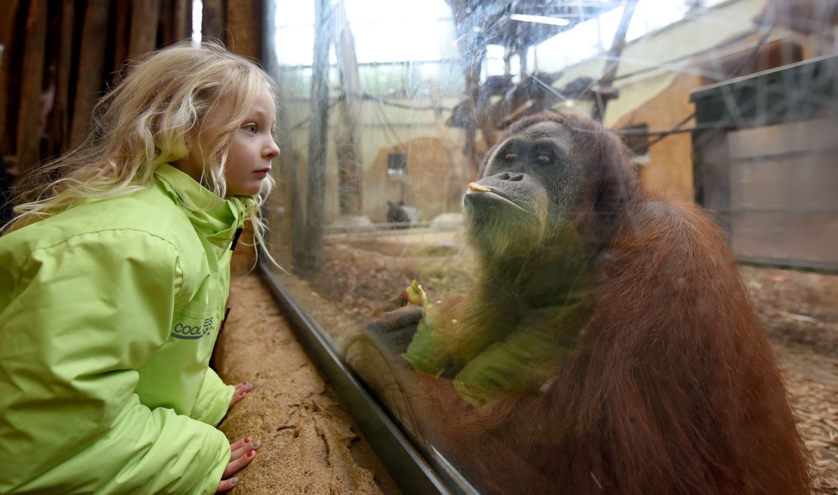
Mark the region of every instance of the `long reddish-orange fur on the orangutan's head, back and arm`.
<instances>
[{"instance_id":1,"label":"long reddish-orange fur on the orangutan's head, back and arm","mask_svg":"<svg viewBox=\"0 0 838 495\"><path fill-rule=\"evenodd\" d=\"M644 193L622 143L592 121L542 116L505 137L546 118L576 130L592 174L576 219L595 253L592 317L541 394L474 410L450 380L420 377L428 414L446 411L428 436L484 492L809 493L778 364L716 225ZM445 330L503 319L494 262L443 310L459 321Z\"/></svg>"}]
</instances>

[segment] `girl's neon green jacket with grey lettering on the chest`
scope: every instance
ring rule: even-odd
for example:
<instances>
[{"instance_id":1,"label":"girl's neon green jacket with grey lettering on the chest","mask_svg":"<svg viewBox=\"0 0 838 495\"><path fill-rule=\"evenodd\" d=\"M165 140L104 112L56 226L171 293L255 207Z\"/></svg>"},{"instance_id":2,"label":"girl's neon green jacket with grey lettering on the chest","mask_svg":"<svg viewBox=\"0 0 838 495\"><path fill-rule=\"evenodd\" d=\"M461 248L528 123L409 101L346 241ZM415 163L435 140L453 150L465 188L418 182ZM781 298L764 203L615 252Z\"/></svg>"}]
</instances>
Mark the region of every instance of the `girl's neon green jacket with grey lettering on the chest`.
<instances>
[{"instance_id":1,"label":"girl's neon green jacket with grey lettering on the chest","mask_svg":"<svg viewBox=\"0 0 838 495\"><path fill-rule=\"evenodd\" d=\"M0 493L218 487L233 387L207 363L252 199L155 175L0 237Z\"/></svg>"}]
</instances>

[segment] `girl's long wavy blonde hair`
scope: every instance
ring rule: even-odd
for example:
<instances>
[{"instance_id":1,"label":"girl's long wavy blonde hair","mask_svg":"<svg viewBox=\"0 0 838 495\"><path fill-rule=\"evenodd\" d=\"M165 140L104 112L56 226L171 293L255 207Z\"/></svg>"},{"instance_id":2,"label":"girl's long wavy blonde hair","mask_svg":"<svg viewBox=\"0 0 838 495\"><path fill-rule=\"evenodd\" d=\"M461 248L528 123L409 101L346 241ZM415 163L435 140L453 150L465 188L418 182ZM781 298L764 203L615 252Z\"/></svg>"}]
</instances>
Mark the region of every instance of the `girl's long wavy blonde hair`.
<instances>
[{"instance_id":1,"label":"girl's long wavy blonde hair","mask_svg":"<svg viewBox=\"0 0 838 495\"><path fill-rule=\"evenodd\" d=\"M175 44L132 62L127 75L96 103L85 141L24 180L23 203L15 207L18 216L7 229L33 224L83 199L116 198L151 187L161 164L189 156L187 142L204 157L201 183L225 198L230 142L263 88L276 100L271 78L257 64L215 42ZM222 98L228 105L220 106ZM201 128L219 107L232 115L208 149L201 149ZM265 230L260 206L273 186L269 175L248 217L259 244Z\"/></svg>"}]
</instances>

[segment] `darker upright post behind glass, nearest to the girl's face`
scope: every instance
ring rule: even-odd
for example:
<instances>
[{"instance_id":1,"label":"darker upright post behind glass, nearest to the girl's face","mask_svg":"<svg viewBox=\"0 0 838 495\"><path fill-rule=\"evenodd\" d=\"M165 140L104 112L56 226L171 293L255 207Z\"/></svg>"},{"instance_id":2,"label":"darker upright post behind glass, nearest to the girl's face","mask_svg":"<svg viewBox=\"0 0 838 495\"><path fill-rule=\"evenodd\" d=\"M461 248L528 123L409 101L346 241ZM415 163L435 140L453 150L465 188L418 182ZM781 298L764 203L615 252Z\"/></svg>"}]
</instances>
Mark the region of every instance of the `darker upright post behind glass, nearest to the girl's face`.
<instances>
[{"instance_id":1,"label":"darker upright post behind glass, nearest to the girl's face","mask_svg":"<svg viewBox=\"0 0 838 495\"><path fill-rule=\"evenodd\" d=\"M323 250L328 139L328 49L334 39L334 7L331 0L316 0L314 23L312 92L308 118L306 229L302 245L295 246L302 249L294 250L297 268L308 273L319 270L320 252Z\"/></svg>"}]
</instances>

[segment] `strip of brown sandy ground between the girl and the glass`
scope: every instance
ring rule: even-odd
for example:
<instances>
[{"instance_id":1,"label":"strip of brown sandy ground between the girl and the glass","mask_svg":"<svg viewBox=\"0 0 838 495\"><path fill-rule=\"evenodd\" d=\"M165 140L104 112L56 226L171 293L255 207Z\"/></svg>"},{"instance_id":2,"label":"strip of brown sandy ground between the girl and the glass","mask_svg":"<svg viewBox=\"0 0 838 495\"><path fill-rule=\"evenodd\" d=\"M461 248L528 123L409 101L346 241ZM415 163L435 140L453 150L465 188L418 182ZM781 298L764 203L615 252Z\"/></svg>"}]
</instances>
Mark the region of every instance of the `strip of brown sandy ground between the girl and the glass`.
<instances>
[{"instance_id":1,"label":"strip of brown sandy ground between the girl and the glass","mask_svg":"<svg viewBox=\"0 0 838 495\"><path fill-rule=\"evenodd\" d=\"M232 493L399 493L256 275L235 277L215 367L255 388L220 425L262 441Z\"/></svg>"}]
</instances>

